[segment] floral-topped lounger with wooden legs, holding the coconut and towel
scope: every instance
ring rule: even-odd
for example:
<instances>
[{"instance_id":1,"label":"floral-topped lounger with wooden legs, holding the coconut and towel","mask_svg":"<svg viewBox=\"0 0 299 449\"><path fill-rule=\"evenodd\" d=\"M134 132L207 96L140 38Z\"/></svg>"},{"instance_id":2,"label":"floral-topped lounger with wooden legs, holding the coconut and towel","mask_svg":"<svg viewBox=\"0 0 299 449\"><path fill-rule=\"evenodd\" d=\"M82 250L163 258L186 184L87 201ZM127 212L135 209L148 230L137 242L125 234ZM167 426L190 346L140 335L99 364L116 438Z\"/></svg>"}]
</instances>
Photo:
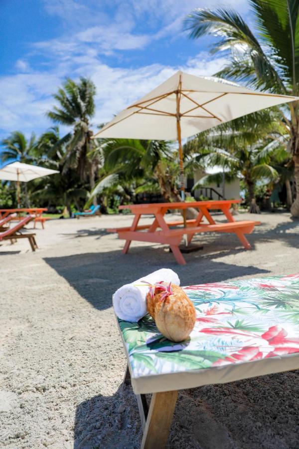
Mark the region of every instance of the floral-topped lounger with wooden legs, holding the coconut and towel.
<instances>
[{"instance_id":1,"label":"floral-topped lounger with wooden legs, holding the coconut and towel","mask_svg":"<svg viewBox=\"0 0 299 449\"><path fill-rule=\"evenodd\" d=\"M299 274L183 289L196 309L188 340L167 340L149 315L117 318L143 449L166 445L178 390L299 369Z\"/></svg>"}]
</instances>

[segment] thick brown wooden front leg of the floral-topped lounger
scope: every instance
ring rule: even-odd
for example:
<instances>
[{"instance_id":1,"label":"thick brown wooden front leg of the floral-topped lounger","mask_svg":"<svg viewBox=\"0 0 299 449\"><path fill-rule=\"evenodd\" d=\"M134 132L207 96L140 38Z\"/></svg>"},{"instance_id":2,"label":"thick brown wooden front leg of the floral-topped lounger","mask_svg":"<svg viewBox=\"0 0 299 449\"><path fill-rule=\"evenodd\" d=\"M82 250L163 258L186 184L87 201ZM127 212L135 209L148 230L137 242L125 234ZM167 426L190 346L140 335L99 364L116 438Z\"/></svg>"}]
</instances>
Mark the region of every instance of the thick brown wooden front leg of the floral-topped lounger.
<instances>
[{"instance_id":1,"label":"thick brown wooden front leg of the floral-topped lounger","mask_svg":"<svg viewBox=\"0 0 299 449\"><path fill-rule=\"evenodd\" d=\"M153 393L141 443L142 449L162 449L166 446L176 399L176 390Z\"/></svg>"}]
</instances>

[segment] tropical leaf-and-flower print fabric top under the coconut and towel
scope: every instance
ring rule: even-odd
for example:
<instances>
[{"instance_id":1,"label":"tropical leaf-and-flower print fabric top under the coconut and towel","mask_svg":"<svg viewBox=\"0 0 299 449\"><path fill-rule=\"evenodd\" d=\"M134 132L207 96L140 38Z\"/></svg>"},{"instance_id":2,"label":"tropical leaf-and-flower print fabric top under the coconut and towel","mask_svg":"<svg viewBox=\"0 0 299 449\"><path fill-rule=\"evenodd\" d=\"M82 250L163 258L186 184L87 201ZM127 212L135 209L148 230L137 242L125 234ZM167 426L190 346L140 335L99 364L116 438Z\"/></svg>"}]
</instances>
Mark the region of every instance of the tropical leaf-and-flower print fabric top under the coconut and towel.
<instances>
[{"instance_id":1,"label":"tropical leaf-and-flower print fabric top under the coconut and towel","mask_svg":"<svg viewBox=\"0 0 299 449\"><path fill-rule=\"evenodd\" d=\"M134 378L299 353L299 274L183 288L196 309L188 340L167 340L149 315L118 320Z\"/></svg>"}]
</instances>

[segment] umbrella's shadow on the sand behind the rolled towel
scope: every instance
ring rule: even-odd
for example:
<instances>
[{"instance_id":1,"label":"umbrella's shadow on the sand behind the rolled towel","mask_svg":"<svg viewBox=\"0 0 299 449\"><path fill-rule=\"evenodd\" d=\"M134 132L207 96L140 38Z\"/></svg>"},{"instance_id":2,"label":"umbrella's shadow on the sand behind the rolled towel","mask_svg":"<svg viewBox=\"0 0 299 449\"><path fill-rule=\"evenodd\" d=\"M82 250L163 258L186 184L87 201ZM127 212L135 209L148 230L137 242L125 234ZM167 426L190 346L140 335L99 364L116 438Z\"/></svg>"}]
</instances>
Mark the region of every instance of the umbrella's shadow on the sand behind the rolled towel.
<instances>
[{"instance_id":1,"label":"umbrella's shadow on the sand behind the rolled towel","mask_svg":"<svg viewBox=\"0 0 299 449\"><path fill-rule=\"evenodd\" d=\"M237 252L239 251L236 250ZM175 270L181 285L215 282L215 280L219 282L237 276L254 276L269 272L251 265L238 266L218 262L211 260L204 251L199 253L200 255L197 256L194 256L194 253L186 254L186 265L178 265L172 254L162 247L150 246L133 247L129 254L123 254L117 250L45 257L44 260L83 298L99 310L111 307L112 294L121 285L163 267ZM222 255L225 254L222 253Z\"/></svg>"}]
</instances>

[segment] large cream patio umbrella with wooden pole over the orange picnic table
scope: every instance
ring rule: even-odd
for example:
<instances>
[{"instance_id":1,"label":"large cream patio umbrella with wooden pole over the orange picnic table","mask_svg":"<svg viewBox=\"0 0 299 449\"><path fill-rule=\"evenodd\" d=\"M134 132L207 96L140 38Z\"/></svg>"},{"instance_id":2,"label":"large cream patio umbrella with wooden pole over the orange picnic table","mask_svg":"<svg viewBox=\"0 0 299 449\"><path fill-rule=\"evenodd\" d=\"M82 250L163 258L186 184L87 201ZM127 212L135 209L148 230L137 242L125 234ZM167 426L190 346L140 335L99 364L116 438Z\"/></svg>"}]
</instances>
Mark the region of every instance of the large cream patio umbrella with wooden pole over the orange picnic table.
<instances>
[{"instance_id":1,"label":"large cream patio umbrella with wooden pole over the orange picnic table","mask_svg":"<svg viewBox=\"0 0 299 449\"><path fill-rule=\"evenodd\" d=\"M255 92L219 78L176 72L120 112L93 138L178 140L181 199L185 199L181 139L299 97Z\"/></svg>"}]
</instances>

